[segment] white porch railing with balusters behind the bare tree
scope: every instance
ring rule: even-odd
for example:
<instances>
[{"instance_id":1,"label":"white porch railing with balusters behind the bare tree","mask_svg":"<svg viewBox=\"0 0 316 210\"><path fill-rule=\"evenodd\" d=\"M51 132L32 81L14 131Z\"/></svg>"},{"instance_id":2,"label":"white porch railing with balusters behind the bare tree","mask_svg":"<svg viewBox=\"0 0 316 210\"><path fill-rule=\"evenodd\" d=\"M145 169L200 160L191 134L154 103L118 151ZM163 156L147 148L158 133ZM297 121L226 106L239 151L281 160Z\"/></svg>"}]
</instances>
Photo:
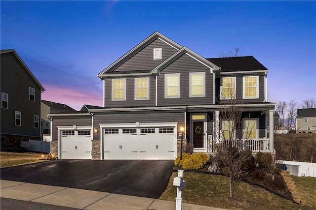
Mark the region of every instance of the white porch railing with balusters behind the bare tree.
<instances>
[{"instance_id":1,"label":"white porch railing with balusters behind the bare tree","mask_svg":"<svg viewBox=\"0 0 316 210\"><path fill-rule=\"evenodd\" d=\"M225 140L224 140L225 141ZM208 151L214 151L216 144L223 143L223 140L208 140ZM269 151L270 139L238 139L234 140L233 144L240 150L251 150L254 152Z\"/></svg>"}]
</instances>

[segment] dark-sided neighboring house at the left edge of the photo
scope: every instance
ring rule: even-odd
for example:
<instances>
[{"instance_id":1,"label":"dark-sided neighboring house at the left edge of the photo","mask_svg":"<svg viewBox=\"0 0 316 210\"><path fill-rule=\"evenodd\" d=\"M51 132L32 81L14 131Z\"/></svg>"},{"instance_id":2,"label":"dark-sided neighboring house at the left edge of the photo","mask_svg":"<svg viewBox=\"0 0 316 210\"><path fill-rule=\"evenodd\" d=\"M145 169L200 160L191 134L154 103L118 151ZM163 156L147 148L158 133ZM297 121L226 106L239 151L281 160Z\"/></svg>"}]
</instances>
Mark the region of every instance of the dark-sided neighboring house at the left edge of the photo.
<instances>
[{"instance_id":1,"label":"dark-sided neighboring house at the left edge of the photo","mask_svg":"<svg viewBox=\"0 0 316 210\"><path fill-rule=\"evenodd\" d=\"M40 140L40 97L45 89L15 50L1 50L1 150Z\"/></svg>"}]
</instances>

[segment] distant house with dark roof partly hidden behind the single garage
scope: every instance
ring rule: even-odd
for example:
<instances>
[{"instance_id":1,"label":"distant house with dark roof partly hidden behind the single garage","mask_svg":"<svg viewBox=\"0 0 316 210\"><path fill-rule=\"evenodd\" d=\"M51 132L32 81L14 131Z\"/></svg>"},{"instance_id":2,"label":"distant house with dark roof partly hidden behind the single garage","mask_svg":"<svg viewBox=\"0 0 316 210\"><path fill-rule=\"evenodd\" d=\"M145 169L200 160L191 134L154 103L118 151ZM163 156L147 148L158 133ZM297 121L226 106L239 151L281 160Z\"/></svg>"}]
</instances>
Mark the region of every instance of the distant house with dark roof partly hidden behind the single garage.
<instances>
[{"instance_id":1,"label":"distant house with dark roof partly hidden behind the single garage","mask_svg":"<svg viewBox=\"0 0 316 210\"><path fill-rule=\"evenodd\" d=\"M66 104L60 104L52 101L41 100L40 105L40 122L42 127L42 133L44 136L50 134L50 120L48 119L48 114L64 113L64 112L76 112L75 109L71 108ZM50 136L50 135L49 135ZM47 137L48 138L48 137ZM50 137L49 137L50 138Z\"/></svg>"}]
</instances>

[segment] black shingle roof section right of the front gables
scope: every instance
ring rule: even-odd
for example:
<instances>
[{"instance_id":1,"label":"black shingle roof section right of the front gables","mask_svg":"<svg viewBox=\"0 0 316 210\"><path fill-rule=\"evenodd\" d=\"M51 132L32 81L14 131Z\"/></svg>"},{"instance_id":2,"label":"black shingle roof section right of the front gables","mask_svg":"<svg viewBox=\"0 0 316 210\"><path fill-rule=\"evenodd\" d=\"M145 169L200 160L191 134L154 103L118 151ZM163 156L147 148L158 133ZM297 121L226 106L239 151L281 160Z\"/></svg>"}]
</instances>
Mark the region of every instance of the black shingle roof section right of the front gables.
<instances>
[{"instance_id":1,"label":"black shingle roof section right of the front gables","mask_svg":"<svg viewBox=\"0 0 316 210\"><path fill-rule=\"evenodd\" d=\"M213 58L206 60L221 67L221 73L241 71L268 72L268 69L264 65L262 65L258 60L256 60L253 56Z\"/></svg>"}]
</instances>

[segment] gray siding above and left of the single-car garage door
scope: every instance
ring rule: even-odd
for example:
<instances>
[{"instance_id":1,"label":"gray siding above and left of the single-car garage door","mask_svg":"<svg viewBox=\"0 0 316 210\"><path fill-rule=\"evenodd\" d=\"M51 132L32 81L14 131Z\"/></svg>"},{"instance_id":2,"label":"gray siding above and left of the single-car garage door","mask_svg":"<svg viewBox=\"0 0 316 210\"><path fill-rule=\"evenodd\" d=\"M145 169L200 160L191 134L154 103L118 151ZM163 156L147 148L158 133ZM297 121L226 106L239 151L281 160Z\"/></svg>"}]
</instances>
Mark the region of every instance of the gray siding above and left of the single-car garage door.
<instances>
[{"instance_id":1,"label":"gray siding above and left of the single-car garage door","mask_svg":"<svg viewBox=\"0 0 316 210\"><path fill-rule=\"evenodd\" d=\"M57 126L90 126L92 125L92 119L91 116L65 116L65 117L56 117L53 118L52 121L52 131L51 135L52 141L58 141L58 128Z\"/></svg>"}]
</instances>

